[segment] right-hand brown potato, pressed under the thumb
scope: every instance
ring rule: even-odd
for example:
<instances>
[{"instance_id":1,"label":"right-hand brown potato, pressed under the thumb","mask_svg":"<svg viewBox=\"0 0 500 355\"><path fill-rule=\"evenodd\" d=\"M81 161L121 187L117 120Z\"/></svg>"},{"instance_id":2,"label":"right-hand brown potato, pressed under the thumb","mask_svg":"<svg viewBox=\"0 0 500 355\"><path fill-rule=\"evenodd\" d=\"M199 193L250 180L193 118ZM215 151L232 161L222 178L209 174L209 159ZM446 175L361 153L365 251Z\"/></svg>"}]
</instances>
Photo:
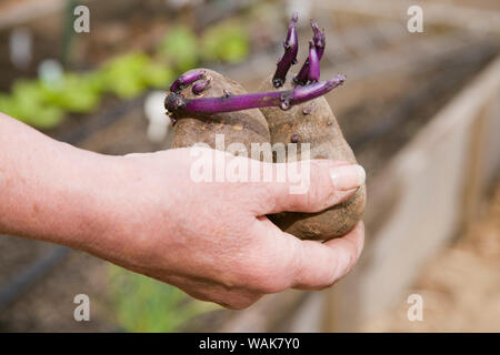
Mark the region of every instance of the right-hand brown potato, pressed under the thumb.
<instances>
[{"instance_id":1,"label":"right-hand brown potato, pressed under the thumb","mask_svg":"<svg viewBox=\"0 0 500 355\"><path fill-rule=\"evenodd\" d=\"M290 74L289 74L290 75ZM292 89L288 81L281 90ZM270 79L259 91L273 89ZM339 123L327 100L321 97L283 111L279 108L260 109L268 120L271 144L310 143L310 159L341 160L357 163L356 156L343 138ZM300 145L299 145L300 146ZM301 160L298 149L298 160ZM282 212L269 219L282 231L302 240L329 240L347 234L361 219L366 205L366 185L349 200L319 213Z\"/></svg>"}]
</instances>

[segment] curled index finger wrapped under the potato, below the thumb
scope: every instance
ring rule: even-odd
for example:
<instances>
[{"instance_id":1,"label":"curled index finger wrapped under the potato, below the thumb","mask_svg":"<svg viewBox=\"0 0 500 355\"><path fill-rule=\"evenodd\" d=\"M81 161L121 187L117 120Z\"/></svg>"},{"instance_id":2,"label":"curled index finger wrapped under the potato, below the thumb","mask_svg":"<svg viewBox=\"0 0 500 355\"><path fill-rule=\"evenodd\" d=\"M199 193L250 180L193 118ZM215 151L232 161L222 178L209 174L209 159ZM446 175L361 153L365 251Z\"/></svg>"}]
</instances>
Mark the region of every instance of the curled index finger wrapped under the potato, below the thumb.
<instances>
[{"instance_id":1,"label":"curled index finger wrapped under the potato, below the thumb","mask_svg":"<svg viewBox=\"0 0 500 355\"><path fill-rule=\"evenodd\" d=\"M321 290L346 276L358 261L364 243L364 225L359 222L347 235L324 243L301 241L281 232L268 219L259 219L258 250L252 257L253 284L261 293L287 288ZM256 262L258 261L258 262Z\"/></svg>"}]
</instances>

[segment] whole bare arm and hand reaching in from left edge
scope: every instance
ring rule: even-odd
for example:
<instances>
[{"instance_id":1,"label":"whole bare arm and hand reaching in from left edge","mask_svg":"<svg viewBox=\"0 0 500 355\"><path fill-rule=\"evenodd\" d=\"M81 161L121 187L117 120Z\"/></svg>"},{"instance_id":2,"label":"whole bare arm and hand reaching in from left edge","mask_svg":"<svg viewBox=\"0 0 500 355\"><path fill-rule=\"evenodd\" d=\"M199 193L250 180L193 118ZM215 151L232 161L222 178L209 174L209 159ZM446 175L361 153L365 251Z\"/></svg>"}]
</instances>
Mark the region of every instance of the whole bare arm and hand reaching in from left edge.
<instances>
[{"instance_id":1,"label":"whole bare arm and hand reaching in from left edge","mask_svg":"<svg viewBox=\"0 0 500 355\"><path fill-rule=\"evenodd\" d=\"M237 310L290 287L330 286L352 268L362 222L321 243L283 233L266 215L334 205L364 182L362 168L311 161L310 189L290 194L289 182L197 183L196 159L190 149L98 154L0 113L0 233L81 250Z\"/></svg>"}]
</instances>

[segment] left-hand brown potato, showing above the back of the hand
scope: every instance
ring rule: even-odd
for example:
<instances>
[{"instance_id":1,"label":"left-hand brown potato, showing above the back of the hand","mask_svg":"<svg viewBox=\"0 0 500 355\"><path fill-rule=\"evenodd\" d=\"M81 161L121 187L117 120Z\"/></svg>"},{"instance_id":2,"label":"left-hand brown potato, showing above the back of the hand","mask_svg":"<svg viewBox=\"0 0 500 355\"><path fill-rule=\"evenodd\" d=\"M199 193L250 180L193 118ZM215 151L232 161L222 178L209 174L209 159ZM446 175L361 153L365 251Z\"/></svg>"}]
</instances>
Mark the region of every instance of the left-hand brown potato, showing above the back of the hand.
<instances>
[{"instance_id":1,"label":"left-hand brown potato, showing above the back of the hand","mask_svg":"<svg viewBox=\"0 0 500 355\"><path fill-rule=\"evenodd\" d=\"M231 94L247 93L243 87L236 81L210 69L202 68L201 70L206 71L207 79L211 79L210 87L200 95L196 95L191 92L192 85L189 85L181 91L184 98L222 97L228 92ZM251 143L270 142L268 123L258 109L217 113L203 118L203 120L181 119L173 125L173 132L172 148L191 146L202 142L216 149L216 134L223 134L226 149L231 143L242 143L247 148L249 156Z\"/></svg>"}]
</instances>

